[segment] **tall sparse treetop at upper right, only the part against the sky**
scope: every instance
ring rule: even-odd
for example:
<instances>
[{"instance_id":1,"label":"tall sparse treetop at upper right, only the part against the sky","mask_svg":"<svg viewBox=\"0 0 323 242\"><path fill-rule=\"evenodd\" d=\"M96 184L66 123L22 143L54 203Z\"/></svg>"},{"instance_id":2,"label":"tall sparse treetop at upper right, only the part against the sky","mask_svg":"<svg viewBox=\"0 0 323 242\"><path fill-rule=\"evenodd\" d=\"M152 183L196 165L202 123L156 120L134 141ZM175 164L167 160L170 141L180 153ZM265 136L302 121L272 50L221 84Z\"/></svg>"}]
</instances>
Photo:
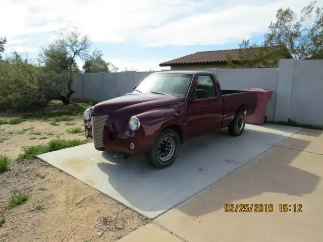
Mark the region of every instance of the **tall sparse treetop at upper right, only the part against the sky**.
<instances>
[{"instance_id":1,"label":"tall sparse treetop at upper right, only the part against the sky","mask_svg":"<svg viewBox=\"0 0 323 242\"><path fill-rule=\"evenodd\" d=\"M323 58L323 8L315 5L305 6L299 17L290 8L279 9L264 44L284 44L295 59Z\"/></svg>"}]
</instances>

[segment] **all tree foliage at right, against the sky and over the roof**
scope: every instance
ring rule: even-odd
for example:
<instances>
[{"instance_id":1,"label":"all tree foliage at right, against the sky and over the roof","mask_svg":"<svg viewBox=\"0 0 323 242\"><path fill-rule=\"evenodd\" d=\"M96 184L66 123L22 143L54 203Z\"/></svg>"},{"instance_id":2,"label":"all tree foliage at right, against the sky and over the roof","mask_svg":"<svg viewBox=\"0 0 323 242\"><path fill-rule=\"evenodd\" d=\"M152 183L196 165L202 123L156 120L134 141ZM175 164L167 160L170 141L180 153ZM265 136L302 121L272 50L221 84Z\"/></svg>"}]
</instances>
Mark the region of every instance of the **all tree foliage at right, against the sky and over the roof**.
<instances>
[{"instance_id":1,"label":"all tree foliage at right, against the sky and over the roof","mask_svg":"<svg viewBox=\"0 0 323 242\"><path fill-rule=\"evenodd\" d=\"M239 45L239 59L227 56L228 67L273 68L279 67L281 58L323 58L323 8L315 8L316 1L304 7L297 17L290 8L279 9L276 22L269 26L262 44Z\"/></svg>"}]
</instances>

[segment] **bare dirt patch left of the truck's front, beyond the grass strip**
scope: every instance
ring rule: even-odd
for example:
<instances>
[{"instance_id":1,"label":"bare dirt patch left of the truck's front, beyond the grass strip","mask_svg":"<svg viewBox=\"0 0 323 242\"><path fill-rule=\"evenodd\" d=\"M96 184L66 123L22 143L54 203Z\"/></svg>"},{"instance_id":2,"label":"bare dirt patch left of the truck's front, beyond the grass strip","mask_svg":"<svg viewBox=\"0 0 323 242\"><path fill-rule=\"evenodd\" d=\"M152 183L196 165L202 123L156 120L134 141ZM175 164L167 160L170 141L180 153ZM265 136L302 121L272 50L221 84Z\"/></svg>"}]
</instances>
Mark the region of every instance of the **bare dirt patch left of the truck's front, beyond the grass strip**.
<instances>
[{"instance_id":1,"label":"bare dirt patch left of the truck's front, beyond the grass strip","mask_svg":"<svg viewBox=\"0 0 323 242\"><path fill-rule=\"evenodd\" d=\"M6 117L1 118L8 119ZM73 120L59 122L59 126L52 126L49 121L37 119L30 119L18 125L0 125L0 141L3 139L0 143L0 155L15 159L21 153L23 146L46 144L51 139L85 140L84 132L77 134L66 132L67 129L73 127L84 129L83 116L71 116L71 118ZM75 125L68 126L67 123L75 123ZM40 132L40 134L37 132ZM42 137L46 137L46 139L42 139Z\"/></svg>"}]
</instances>

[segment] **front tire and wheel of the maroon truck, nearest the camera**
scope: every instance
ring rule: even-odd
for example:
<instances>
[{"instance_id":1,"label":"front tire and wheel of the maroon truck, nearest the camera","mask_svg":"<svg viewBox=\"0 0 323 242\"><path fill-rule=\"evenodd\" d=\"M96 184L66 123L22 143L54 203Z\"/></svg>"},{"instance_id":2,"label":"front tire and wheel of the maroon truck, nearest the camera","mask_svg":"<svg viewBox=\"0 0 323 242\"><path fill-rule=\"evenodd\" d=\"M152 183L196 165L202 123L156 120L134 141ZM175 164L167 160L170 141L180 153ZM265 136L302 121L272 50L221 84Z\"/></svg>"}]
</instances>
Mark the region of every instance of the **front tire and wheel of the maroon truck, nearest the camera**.
<instances>
[{"instance_id":1,"label":"front tire and wheel of the maroon truck, nearest the camera","mask_svg":"<svg viewBox=\"0 0 323 242\"><path fill-rule=\"evenodd\" d=\"M158 169L171 166L176 160L179 145L180 138L174 130L166 129L161 131L156 142L145 154L146 162ZM166 148L168 149L166 150Z\"/></svg>"}]
</instances>

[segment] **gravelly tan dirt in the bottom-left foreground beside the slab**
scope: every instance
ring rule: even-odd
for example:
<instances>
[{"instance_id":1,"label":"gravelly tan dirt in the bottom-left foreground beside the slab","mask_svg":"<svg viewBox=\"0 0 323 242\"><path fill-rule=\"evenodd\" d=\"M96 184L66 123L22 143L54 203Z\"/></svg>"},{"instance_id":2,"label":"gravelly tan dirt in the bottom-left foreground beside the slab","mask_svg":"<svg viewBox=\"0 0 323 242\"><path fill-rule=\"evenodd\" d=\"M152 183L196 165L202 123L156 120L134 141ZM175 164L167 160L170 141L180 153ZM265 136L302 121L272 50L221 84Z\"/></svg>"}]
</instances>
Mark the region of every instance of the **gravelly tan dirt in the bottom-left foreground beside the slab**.
<instances>
[{"instance_id":1,"label":"gravelly tan dirt in the bottom-left foreground beside the slab","mask_svg":"<svg viewBox=\"0 0 323 242\"><path fill-rule=\"evenodd\" d=\"M38 159L13 162L0 184L0 241L116 241L148 222ZM7 208L19 192L29 199ZM36 206L43 210L33 211Z\"/></svg>"}]
</instances>

